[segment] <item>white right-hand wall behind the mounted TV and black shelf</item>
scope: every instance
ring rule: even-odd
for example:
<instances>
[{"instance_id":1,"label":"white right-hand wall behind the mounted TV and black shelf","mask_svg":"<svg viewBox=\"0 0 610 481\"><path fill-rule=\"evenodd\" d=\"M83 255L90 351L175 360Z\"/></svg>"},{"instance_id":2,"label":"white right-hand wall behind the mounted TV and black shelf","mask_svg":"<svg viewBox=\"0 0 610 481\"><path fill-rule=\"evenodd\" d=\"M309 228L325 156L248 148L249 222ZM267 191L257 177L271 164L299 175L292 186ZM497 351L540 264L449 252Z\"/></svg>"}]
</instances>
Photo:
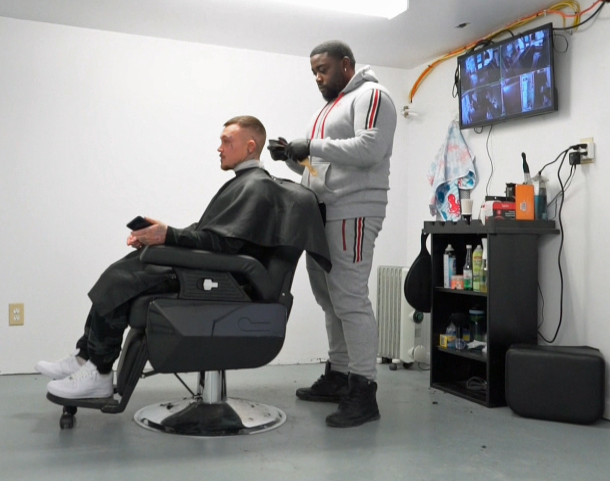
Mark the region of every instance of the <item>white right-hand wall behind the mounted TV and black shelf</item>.
<instances>
[{"instance_id":1,"label":"white right-hand wall behind the mounted TV and black shelf","mask_svg":"<svg viewBox=\"0 0 610 481\"><path fill-rule=\"evenodd\" d=\"M559 92L559 112L526 120L511 121L493 127L489 150L495 165L489 192L501 195L504 183L522 182L521 153L528 156L531 172L536 173L562 150L594 137L595 164L578 167L572 186L565 197L562 220L565 243L562 254L564 274L564 313L561 330L555 344L590 345L601 350L610 360L610 330L608 328L608 239L610 224L606 205L610 178L610 20L601 18L589 29L569 37L569 50L555 54L556 84ZM547 20L548 21L548 20ZM558 40L558 42L561 39ZM563 44L558 48L562 48ZM425 66L409 72L412 85ZM409 170L406 189L407 259L419 251L416 235L424 220L429 220L430 189L426 172L447 132L448 124L458 112L458 99L451 96L456 61L443 63L431 73L414 98L412 109L420 114L409 119L407 144ZM464 137L475 151L478 186L473 198L475 206L484 200L485 185L490 175L486 153L489 129L482 134L464 131ZM567 160L565 161L567 165ZM545 175L551 179L550 197L559 190L555 164ZM562 178L569 165L562 169ZM552 211L551 211L552 214ZM539 281L544 293L544 324L540 329L547 339L553 337L559 322L559 271L557 256L559 236L545 237L540 242ZM539 302L539 308L541 303ZM542 316L539 317L542 322ZM608 370L606 363L606 370ZM569 386L566 386L569 389ZM610 382L606 382L606 417L610 414Z\"/></svg>"}]
</instances>

